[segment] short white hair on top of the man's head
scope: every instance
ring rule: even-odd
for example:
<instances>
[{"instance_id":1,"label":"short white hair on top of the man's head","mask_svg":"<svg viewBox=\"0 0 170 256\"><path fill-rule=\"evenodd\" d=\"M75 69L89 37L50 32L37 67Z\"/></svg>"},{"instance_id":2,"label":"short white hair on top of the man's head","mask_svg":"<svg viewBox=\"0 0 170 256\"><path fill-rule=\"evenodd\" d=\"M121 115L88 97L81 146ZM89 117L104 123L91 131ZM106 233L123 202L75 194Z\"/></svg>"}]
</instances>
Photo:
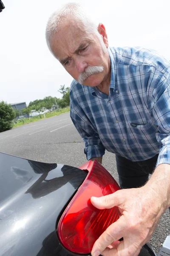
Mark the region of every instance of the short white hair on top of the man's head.
<instances>
[{"instance_id":1,"label":"short white hair on top of the man's head","mask_svg":"<svg viewBox=\"0 0 170 256\"><path fill-rule=\"evenodd\" d=\"M84 25L85 32L95 34L99 38L99 41L102 44L103 51L106 52L106 49L105 49L106 47L104 45L101 35L97 30L96 24L91 20L90 17L88 17L88 15L86 15L84 10L78 3L67 3L61 9L52 13L51 16L49 17L46 25L46 30L45 30L45 38L46 38L48 48L50 49L51 52L52 52L51 46L50 46L51 37L54 36L61 29L63 23L66 20L68 20L69 17L71 17L71 20L76 22L78 26Z\"/></svg>"}]
</instances>

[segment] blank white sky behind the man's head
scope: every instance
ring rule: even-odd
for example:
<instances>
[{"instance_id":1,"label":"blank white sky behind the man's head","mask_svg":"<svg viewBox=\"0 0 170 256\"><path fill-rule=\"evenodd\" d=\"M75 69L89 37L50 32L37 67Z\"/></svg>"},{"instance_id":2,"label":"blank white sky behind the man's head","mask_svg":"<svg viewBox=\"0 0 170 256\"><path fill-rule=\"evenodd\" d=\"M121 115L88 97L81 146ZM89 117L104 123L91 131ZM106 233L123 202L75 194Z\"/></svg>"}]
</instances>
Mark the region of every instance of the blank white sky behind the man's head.
<instances>
[{"instance_id":1,"label":"blank white sky behind the man's head","mask_svg":"<svg viewBox=\"0 0 170 256\"><path fill-rule=\"evenodd\" d=\"M73 2L73 1L72 1ZM105 25L109 45L152 48L170 60L170 0L74 0ZM61 97L72 78L51 55L45 26L66 0L3 0L0 13L0 100Z\"/></svg>"}]
</instances>

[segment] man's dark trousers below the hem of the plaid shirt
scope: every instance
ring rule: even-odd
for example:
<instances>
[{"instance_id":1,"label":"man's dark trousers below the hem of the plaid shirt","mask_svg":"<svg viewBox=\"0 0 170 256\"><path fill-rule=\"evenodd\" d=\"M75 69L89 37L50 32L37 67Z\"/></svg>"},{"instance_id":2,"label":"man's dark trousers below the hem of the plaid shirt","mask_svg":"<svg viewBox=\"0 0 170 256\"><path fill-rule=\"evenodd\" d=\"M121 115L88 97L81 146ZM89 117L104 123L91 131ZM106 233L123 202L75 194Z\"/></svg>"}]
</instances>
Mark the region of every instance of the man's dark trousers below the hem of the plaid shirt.
<instances>
[{"instance_id":1,"label":"man's dark trousers below the hem of the plaid shirt","mask_svg":"<svg viewBox=\"0 0 170 256\"><path fill-rule=\"evenodd\" d=\"M144 161L132 162L116 154L116 165L121 189L143 186L147 182L149 174L153 173L157 158L158 154Z\"/></svg>"}]
</instances>

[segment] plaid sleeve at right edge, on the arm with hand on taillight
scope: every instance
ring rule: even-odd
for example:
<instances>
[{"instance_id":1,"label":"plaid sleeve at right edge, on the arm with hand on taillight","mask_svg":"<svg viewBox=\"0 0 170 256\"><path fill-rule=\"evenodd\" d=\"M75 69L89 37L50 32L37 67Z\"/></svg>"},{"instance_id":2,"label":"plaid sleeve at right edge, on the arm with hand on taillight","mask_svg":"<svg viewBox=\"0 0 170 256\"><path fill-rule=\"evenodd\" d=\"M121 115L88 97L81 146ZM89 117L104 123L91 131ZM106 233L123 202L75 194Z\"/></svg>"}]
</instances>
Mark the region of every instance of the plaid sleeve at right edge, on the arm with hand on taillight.
<instances>
[{"instance_id":1,"label":"plaid sleeve at right edge, on the arm with hand on taillight","mask_svg":"<svg viewBox=\"0 0 170 256\"><path fill-rule=\"evenodd\" d=\"M156 133L160 144L156 166L170 164L170 67L159 75L149 105L152 105L151 115L159 130Z\"/></svg>"}]
</instances>

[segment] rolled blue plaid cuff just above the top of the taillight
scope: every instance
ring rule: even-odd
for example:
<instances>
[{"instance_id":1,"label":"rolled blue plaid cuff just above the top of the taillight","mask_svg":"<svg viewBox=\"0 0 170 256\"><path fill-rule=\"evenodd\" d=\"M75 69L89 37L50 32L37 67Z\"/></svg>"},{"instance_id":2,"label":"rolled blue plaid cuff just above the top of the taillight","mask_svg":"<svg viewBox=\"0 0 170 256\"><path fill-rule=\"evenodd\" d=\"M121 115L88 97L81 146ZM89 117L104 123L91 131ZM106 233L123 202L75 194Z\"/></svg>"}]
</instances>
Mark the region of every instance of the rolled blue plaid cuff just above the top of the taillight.
<instances>
[{"instance_id":1,"label":"rolled blue plaid cuff just above the top of the taillight","mask_svg":"<svg viewBox=\"0 0 170 256\"><path fill-rule=\"evenodd\" d=\"M95 157L102 157L105 154L105 148L99 147L98 145L90 145L85 147L84 152L87 160Z\"/></svg>"}]
</instances>

